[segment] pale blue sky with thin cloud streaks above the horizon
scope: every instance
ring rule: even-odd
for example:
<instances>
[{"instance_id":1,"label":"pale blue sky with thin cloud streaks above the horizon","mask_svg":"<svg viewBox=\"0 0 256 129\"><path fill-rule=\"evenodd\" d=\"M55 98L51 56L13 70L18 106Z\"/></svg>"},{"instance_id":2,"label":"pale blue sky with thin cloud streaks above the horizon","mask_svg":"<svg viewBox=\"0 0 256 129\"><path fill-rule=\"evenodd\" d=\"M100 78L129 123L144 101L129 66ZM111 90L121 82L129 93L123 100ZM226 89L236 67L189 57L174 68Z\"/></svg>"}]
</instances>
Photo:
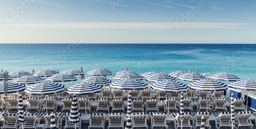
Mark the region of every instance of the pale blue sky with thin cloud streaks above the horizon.
<instances>
[{"instance_id":1,"label":"pale blue sky with thin cloud streaks above the horizon","mask_svg":"<svg viewBox=\"0 0 256 129\"><path fill-rule=\"evenodd\" d=\"M3 0L0 43L253 43L255 5L252 0Z\"/></svg>"}]
</instances>

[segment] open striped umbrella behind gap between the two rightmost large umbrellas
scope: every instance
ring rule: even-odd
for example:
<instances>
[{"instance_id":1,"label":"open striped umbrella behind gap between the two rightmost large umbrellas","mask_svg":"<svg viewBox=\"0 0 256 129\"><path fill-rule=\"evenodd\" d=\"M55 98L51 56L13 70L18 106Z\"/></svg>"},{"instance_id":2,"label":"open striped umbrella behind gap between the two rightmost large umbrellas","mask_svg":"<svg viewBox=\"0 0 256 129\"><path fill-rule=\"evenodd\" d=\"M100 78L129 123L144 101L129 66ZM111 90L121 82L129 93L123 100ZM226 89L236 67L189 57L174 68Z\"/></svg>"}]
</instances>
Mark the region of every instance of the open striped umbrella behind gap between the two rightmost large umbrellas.
<instances>
[{"instance_id":1,"label":"open striped umbrella behind gap between the two rightmost large umbrellas","mask_svg":"<svg viewBox=\"0 0 256 129\"><path fill-rule=\"evenodd\" d=\"M218 73L209 76L210 79L215 79L215 80L221 80L221 81L239 81L241 80L237 76L230 74L230 73Z\"/></svg>"}]
</instances>

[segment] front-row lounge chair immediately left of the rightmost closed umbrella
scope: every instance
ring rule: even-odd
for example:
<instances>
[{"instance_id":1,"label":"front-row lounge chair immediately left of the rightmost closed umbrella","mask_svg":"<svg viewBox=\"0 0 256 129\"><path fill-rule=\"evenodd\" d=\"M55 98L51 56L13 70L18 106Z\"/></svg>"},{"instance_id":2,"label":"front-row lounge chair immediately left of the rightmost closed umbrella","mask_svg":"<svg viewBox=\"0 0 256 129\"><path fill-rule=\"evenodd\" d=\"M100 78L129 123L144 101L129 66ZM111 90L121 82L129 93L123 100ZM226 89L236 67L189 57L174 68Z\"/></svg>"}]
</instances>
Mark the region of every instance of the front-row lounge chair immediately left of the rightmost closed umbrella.
<instances>
[{"instance_id":1,"label":"front-row lounge chair immediately left of the rightmost closed umbrella","mask_svg":"<svg viewBox=\"0 0 256 129\"><path fill-rule=\"evenodd\" d=\"M211 116L215 119L215 127L220 128L221 126L231 127L231 112L211 113Z\"/></svg>"}]
</instances>

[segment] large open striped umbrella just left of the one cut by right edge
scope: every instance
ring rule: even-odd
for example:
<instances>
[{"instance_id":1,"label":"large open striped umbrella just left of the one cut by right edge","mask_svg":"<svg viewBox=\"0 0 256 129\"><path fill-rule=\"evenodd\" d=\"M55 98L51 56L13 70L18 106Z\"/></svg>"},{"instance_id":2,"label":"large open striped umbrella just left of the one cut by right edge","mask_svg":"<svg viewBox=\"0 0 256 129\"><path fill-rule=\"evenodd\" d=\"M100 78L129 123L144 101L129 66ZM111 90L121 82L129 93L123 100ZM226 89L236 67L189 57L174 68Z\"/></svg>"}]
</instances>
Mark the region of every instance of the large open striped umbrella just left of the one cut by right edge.
<instances>
[{"instance_id":1,"label":"large open striped umbrella just left of the one cut by right edge","mask_svg":"<svg viewBox=\"0 0 256 129\"><path fill-rule=\"evenodd\" d=\"M212 79L202 79L188 84L188 86L196 91L224 91L227 85Z\"/></svg>"}]
</instances>

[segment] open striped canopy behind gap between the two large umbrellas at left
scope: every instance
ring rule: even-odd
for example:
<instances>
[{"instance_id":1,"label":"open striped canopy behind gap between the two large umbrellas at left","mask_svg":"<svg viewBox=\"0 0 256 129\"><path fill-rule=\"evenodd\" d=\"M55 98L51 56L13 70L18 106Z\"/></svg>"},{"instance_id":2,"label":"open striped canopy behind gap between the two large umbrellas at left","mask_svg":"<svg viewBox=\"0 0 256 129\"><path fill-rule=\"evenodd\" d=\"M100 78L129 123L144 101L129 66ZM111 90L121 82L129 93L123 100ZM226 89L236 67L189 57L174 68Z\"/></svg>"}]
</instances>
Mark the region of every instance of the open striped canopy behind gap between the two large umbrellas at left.
<instances>
[{"instance_id":1,"label":"open striped canopy behind gap between the two large umbrellas at left","mask_svg":"<svg viewBox=\"0 0 256 129\"><path fill-rule=\"evenodd\" d=\"M47 78L48 81L54 81L54 82L65 82L65 81L76 81L77 78L75 76L69 75L69 74L55 74L49 78Z\"/></svg>"}]
</instances>

